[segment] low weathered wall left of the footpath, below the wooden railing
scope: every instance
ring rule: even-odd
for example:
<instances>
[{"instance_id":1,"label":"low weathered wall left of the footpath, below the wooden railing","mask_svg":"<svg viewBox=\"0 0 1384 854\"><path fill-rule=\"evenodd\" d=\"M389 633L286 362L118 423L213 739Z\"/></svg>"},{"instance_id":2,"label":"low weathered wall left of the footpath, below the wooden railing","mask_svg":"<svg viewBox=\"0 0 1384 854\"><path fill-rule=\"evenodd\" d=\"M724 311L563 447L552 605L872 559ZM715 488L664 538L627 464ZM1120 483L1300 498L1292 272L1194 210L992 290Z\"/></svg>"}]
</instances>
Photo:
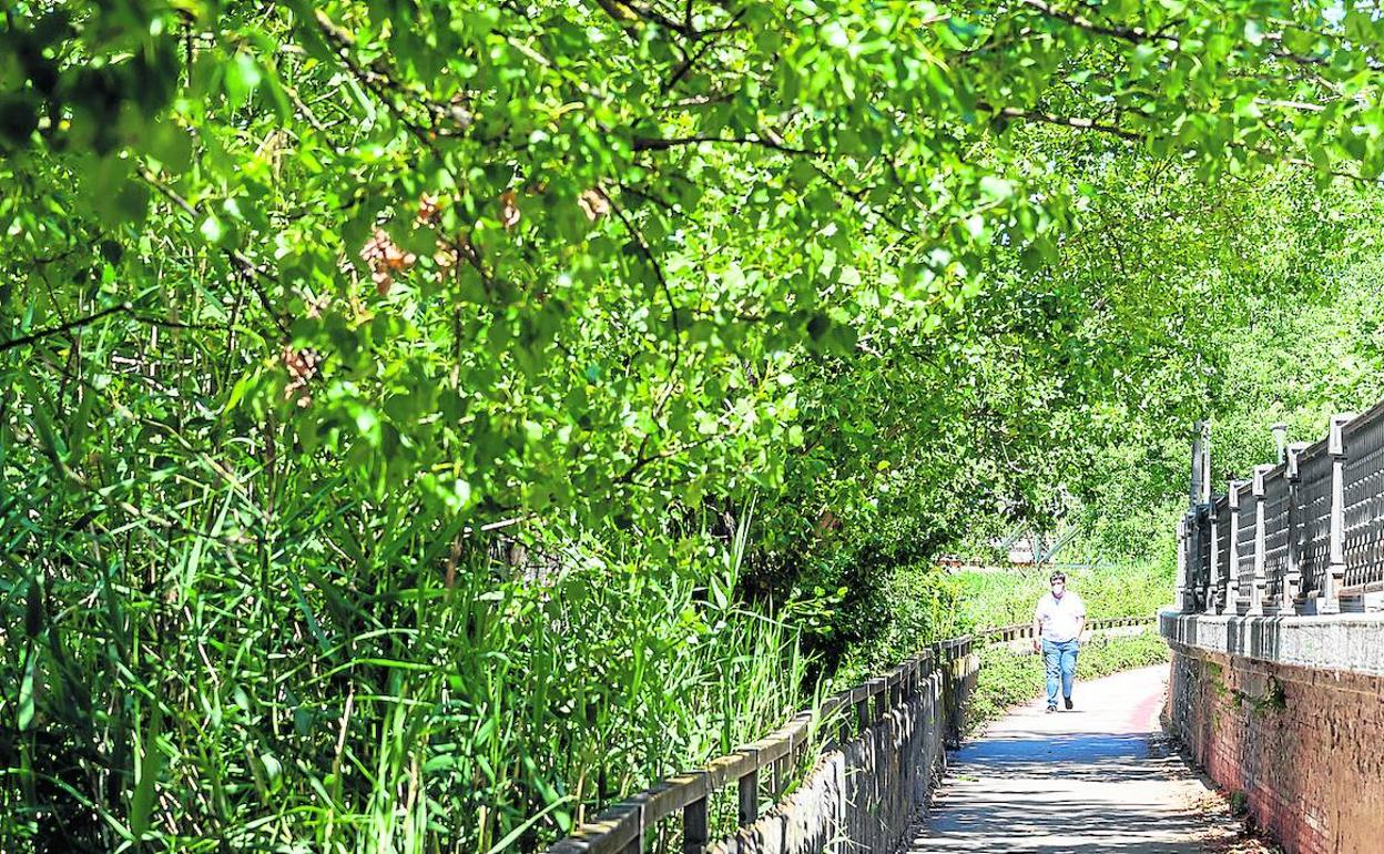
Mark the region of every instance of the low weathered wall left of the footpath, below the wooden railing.
<instances>
[{"instance_id":1,"label":"low weathered wall left of the footpath, below the wooden railing","mask_svg":"<svg viewBox=\"0 0 1384 854\"><path fill-rule=\"evenodd\" d=\"M980 656L969 655L850 742L822 754L803 785L711 854L887 854L904 842L960 738Z\"/></svg>"}]
</instances>

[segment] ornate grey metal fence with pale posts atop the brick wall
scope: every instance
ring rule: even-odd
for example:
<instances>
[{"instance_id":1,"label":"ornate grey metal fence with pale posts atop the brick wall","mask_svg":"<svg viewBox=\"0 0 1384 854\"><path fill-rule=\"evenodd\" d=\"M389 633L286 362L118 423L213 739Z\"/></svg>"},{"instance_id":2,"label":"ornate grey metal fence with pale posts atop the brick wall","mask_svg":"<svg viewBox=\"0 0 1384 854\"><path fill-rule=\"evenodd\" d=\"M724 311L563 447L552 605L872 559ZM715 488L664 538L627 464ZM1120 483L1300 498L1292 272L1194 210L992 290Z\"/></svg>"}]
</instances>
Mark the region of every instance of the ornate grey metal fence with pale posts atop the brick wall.
<instances>
[{"instance_id":1,"label":"ornate grey metal fence with pale posts atop the brick wall","mask_svg":"<svg viewBox=\"0 0 1384 854\"><path fill-rule=\"evenodd\" d=\"M1178 526L1183 612L1359 610L1384 592L1384 403L1232 480Z\"/></svg>"}]
</instances>

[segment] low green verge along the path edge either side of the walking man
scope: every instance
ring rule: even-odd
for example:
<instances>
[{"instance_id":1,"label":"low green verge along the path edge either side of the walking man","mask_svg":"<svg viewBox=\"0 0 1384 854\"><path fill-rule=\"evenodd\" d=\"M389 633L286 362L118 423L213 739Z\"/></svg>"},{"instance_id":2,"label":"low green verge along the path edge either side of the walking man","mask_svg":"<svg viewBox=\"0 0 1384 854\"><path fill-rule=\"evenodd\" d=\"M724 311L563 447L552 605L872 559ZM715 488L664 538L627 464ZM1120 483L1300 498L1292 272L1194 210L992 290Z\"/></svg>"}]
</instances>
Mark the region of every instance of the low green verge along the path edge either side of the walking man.
<instances>
[{"instance_id":1,"label":"low green verge along the path edge either side of the walking man","mask_svg":"<svg viewBox=\"0 0 1384 854\"><path fill-rule=\"evenodd\" d=\"M1121 670L1168 660L1168 645L1153 628L1136 635L1096 635L1081 648L1078 680L1095 680ZM980 731L1006 710L1044 692L1042 656L1016 655L1006 646L988 646L980 653L980 681L972 698L967 732Z\"/></svg>"}]
</instances>

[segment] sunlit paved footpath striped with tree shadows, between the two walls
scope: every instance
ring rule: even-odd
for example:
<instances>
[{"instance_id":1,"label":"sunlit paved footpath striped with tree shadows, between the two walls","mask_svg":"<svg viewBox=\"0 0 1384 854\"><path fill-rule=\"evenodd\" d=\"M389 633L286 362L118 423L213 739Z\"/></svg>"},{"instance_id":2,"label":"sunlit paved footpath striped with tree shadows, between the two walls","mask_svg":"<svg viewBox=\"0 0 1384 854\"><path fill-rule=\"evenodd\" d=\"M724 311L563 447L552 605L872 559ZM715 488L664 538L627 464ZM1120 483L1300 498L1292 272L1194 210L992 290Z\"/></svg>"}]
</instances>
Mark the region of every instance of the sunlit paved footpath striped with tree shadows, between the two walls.
<instances>
[{"instance_id":1,"label":"sunlit paved footpath striped with tree shadows, between the two walls","mask_svg":"<svg viewBox=\"0 0 1384 854\"><path fill-rule=\"evenodd\" d=\"M951 757L909 854L1194 854L1239 830L1163 739L1168 667L1077 682L1071 711L1012 711Z\"/></svg>"}]
</instances>

